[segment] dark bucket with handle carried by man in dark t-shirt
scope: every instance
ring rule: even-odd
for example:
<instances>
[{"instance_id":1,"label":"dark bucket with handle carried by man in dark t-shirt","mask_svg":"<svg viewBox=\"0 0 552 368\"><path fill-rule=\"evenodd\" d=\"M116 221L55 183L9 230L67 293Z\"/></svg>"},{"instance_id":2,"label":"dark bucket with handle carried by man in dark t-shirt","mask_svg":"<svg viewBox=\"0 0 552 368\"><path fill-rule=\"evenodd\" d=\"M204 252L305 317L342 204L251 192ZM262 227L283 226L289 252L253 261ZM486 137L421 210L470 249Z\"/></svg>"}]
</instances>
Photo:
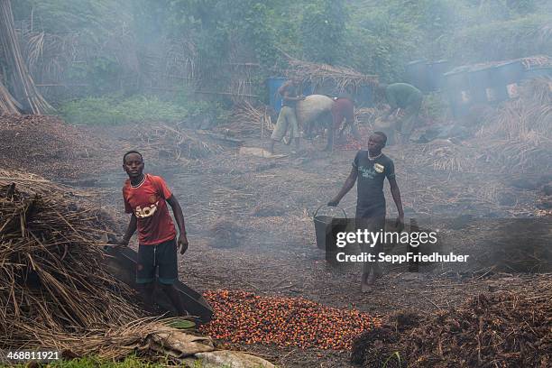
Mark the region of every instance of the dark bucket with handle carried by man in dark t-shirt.
<instances>
[{"instance_id":1,"label":"dark bucket with handle carried by man in dark t-shirt","mask_svg":"<svg viewBox=\"0 0 552 368\"><path fill-rule=\"evenodd\" d=\"M337 233L344 232L347 227L347 214L345 209L339 208L343 212L344 217L334 217L327 215L318 215L320 208L326 205L317 207L313 215L315 225L315 234L317 235L317 248L326 252L326 261L332 264L337 263L336 253L342 249L336 245Z\"/></svg>"}]
</instances>

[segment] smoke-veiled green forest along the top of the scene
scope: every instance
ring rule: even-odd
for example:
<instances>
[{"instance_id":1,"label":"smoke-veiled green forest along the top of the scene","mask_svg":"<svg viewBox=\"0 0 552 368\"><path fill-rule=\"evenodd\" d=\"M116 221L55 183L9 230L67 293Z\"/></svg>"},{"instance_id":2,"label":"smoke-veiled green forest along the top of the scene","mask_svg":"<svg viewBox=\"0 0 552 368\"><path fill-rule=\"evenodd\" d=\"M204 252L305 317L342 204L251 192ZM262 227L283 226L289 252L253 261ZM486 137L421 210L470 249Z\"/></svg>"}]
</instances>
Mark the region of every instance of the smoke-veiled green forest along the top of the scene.
<instances>
[{"instance_id":1,"label":"smoke-veiled green forest along the top of the scene","mask_svg":"<svg viewBox=\"0 0 552 368\"><path fill-rule=\"evenodd\" d=\"M183 115L216 121L235 94L266 102L266 78L281 75L286 55L396 82L412 60L457 66L552 54L547 0L21 0L12 6L35 83L60 114L79 123Z\"/></svg>"}]
</instances>

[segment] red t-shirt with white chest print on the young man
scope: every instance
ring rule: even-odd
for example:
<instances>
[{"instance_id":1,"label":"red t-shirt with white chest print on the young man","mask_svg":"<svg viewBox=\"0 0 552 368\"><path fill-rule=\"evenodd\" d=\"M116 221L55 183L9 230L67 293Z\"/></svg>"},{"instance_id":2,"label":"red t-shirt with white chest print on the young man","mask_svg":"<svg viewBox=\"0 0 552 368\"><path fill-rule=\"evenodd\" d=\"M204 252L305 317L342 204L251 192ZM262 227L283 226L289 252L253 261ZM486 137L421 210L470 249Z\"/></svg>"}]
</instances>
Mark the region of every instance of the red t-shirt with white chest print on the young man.
<instances>
[{"instance_id":1,"label":"red t-shirt with white chest print on the young man","mask_svg":"<svg viewBox=\"0 0 552 368\"><path fill-rule=\"evenodd\" d=\"M165 180L155 175L145 174L138 187L132 187L130 179L124 182L124 210L138 219L139 244L160 244L176 236L166 202L171 195Z\"/></svg>"}]
</instances>

